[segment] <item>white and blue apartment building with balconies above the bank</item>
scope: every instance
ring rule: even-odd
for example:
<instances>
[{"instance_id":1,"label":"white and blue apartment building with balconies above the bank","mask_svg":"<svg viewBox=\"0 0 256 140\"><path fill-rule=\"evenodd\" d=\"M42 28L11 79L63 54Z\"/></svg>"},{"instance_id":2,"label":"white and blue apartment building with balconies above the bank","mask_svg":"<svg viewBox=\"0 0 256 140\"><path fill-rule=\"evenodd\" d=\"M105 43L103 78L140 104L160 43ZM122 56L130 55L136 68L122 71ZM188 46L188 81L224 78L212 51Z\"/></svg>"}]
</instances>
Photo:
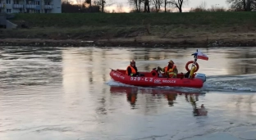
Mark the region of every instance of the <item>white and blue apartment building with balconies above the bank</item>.
<instances>
[{"instance_id":1,"label":"white and blue apartment building with balconies above the bank","mask_svg":"<svg viewBox=\"0 0 256 140\"><path fill-rule=\"evenodd\" d=\"M0 13L62 13L62 0L0 0Z\"/></svg>"}]
</instances>

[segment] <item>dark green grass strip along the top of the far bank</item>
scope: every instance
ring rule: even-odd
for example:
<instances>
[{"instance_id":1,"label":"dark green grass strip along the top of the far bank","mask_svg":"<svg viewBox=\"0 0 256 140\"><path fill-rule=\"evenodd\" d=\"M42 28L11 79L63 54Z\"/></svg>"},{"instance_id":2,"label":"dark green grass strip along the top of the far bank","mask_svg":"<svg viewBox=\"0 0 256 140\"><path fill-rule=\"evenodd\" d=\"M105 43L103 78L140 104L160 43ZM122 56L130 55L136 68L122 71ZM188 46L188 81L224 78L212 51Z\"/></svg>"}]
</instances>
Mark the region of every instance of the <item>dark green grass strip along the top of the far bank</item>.
<instances>
[{"instance_id":1,"label":"dark green grass strip along the top of the far bank","mask_svg":"<svg viewBox=\"0 0 256 140\"><path fill-rule=\"evenodd\" d=\"M34 27L144 25L256 25L256 12L17 14Z\"/></svg>"}]
</instances>

